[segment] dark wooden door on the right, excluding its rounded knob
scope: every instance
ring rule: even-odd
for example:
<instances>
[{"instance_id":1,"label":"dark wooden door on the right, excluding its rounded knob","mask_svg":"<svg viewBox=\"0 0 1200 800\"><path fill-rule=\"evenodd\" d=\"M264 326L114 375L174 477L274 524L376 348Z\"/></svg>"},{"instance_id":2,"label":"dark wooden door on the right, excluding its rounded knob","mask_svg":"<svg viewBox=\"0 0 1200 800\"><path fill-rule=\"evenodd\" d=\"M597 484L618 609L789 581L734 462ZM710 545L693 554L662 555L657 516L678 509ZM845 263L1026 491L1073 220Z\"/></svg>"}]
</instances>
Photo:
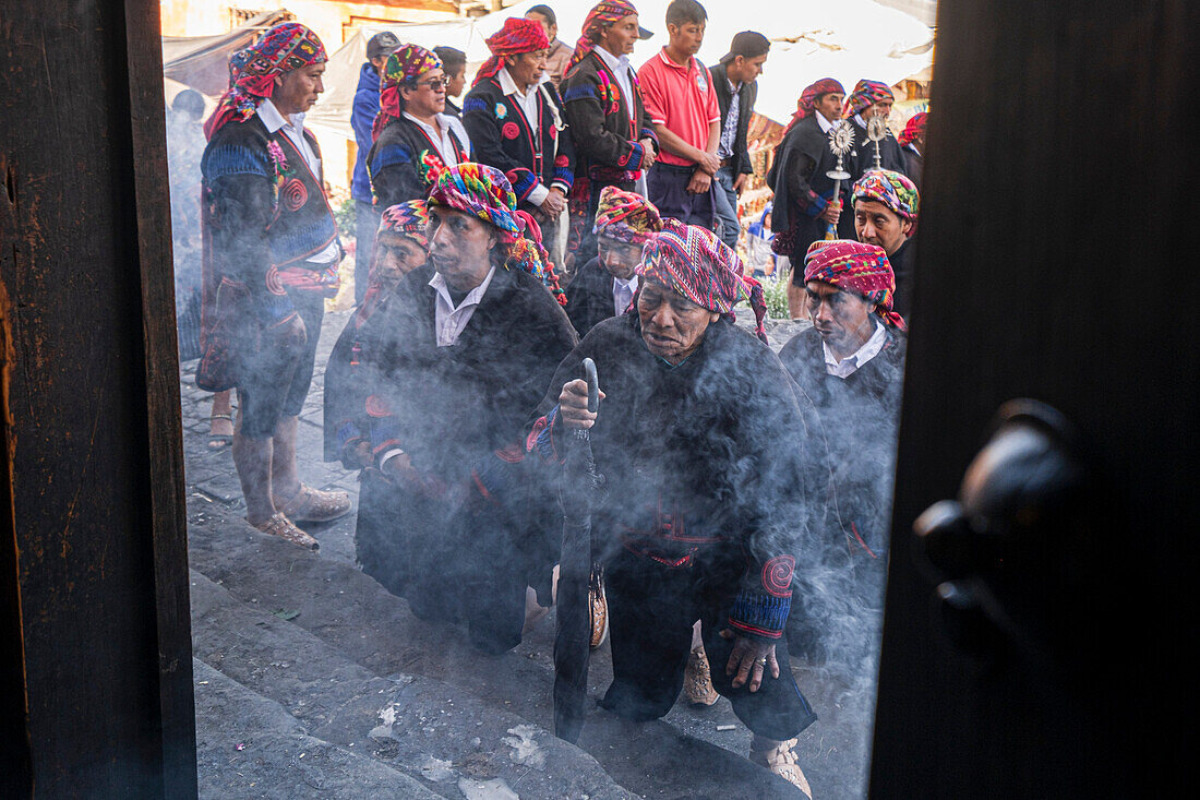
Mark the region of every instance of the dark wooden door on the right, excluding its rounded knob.
<instances>
[{"instance_id":1,"label":"dark wooden door on the right, excluding its rounded knob","mask_svg":"<svg viewBox=\"0 0 1200 800\"><path fill-rule=\"evenodd\" d=\"M941 4L875 796L1182 796L1198 29L1182 0ZM955 638L913 523L958 495L1013 398L1076 428L1094 502L1008 575L992 611L1014 626Z\"/></svg>"}]
</instances>

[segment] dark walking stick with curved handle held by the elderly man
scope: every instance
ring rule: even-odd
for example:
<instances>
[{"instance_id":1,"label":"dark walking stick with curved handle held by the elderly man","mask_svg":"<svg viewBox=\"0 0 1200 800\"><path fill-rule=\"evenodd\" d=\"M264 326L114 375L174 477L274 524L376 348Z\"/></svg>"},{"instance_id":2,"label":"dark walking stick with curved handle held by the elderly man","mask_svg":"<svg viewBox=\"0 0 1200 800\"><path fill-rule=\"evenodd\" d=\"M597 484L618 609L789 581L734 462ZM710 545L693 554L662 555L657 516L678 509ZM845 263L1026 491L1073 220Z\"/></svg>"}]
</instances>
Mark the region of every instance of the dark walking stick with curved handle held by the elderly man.
<instances>
[{"instance_id":1,"label":"dark walking stick with curved handle held by the elderly man","mask_svg":"<svg viewBox=\"0 0 1200 800\"><path fill-rule=\"evenodd\" d=\"M596 365L583 359L588 411L600 408ZM558 560L558 629L554 634L554 734L575 744L583 729L592 651L588 584L592 577L592 506L605 478L596 472L592 436L572 430L558 498L563 507L563 544Z\"/></svg>"}]
</instances>

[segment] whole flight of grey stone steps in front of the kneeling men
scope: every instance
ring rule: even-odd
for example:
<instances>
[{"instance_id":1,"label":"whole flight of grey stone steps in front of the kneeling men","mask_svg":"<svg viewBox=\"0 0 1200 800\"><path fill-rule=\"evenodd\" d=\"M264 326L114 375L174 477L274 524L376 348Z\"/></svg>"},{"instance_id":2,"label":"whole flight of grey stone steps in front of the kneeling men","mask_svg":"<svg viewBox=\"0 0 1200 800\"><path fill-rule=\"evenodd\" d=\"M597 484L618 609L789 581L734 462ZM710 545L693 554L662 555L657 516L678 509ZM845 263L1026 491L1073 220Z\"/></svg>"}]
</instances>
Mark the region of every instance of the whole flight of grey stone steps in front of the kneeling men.
<instances>
[{"instance_id":1,"label":"whole flight of grey stone steps in front of the kneeling men","mask_svg":"<svg viewBox=\"0 0 1200 800\"><path fill-rule=\"evenodd\" d=\"M750 764L744 746L710 744L670 717L631 726L595 709L578 747L557 739L552 615L516 650L485 656L352 565L263 536L221 506L197 511L192 638L206 796L802 796ZM611 679L600 652L596 699ZM722 703L702 712L704 728L736 724ZM719 735L749 744L740 726Z\"/></svg>"}]
</instances>

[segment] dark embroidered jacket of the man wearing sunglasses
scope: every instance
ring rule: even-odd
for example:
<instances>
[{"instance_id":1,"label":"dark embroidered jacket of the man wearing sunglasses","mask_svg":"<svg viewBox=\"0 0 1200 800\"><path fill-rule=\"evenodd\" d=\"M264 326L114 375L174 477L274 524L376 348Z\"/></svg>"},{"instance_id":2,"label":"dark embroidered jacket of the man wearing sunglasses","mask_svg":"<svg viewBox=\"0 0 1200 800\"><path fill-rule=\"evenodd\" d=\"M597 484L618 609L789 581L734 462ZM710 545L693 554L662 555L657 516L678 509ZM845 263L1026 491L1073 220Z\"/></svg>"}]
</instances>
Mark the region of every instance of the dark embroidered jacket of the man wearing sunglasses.
<instances>
[{"instance_id":1,"label":"dark embroidered jacket of the man wearing sunglasses","mask_svg":"<svg viewBox=\"0 0 1200 800\"><path fill-rule=\"evenodd\" d=\"M457 159L469 161L467 145L450 130ZM367 153L367 171L376 205L380 209L404 201L428 197L445 163L428 133L408 119L400 117L388 123Z\"/></svg>"}]
</instances>

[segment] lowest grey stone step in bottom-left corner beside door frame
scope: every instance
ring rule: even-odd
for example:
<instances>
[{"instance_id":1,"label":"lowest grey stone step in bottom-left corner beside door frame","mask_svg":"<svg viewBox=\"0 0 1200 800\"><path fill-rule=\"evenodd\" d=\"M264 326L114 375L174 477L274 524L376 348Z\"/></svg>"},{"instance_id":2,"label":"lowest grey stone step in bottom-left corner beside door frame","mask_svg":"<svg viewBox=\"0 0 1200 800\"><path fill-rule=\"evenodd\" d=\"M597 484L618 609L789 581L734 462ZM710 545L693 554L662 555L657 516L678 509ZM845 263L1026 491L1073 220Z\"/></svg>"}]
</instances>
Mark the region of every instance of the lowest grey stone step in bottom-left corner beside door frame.
<instances>
[{"instance_id":1,"label":"lowest grey stone step in bottom-left corner beside door frame","mask_svg":"<svg viewBox=\"0 0 1200 800\"><path fill-rule=\"evenodd\" d=\"M376 759L310 736L278 703L198 658L192 674L200 798L440 798Z\"/></svg>"}]
</instances>

